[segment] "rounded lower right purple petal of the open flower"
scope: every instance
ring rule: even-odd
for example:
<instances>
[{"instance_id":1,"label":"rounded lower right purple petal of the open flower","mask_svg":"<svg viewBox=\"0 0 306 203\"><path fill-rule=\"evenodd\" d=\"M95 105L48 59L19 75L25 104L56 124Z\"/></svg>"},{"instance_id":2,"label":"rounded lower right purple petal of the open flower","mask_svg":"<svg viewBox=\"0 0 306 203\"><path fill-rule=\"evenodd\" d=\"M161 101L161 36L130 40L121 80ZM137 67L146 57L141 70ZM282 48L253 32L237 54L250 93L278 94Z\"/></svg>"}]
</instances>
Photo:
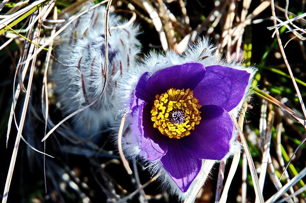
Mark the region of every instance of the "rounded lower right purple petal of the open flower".
<instances>
[{"instance_id":1,"label":"rounded lower right purple petal of the open flower","mask_svg":"<svg viewBox=\"0 0 306 203\"><path fill-rule=\"evenodd\" d=\"M200 108L201 121L182 143L189 153L201 159L221 160L230 151L234 123L227 111L216 105Z\"/></svg>"}]
</instances>

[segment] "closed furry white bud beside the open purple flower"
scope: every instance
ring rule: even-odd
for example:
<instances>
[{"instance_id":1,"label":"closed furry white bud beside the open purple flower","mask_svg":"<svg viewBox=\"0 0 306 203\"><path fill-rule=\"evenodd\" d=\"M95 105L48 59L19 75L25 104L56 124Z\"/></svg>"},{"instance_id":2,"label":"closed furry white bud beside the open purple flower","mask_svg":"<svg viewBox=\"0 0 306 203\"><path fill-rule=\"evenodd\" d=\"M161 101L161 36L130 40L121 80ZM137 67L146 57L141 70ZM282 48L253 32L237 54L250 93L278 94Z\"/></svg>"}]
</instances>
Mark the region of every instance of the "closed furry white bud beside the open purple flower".
<instances>
[{"instance_id":1,"label":"closed furry white bud beside the open purple flower","mask_svg":"<svg viewBox=\"0 0 306 203\"><path fill-rule=\"evenodd\" d=\"M91 6L88 5L86 7ZM106 8L97 7L76 19L62 34L63 43L55 49L60 62L54 62L51 79L64 116L87 106L100 95L104 85ZM126 22L110 13L108 27ZM76 114L71 125L82 137L99 136L114 119L113 90L122 73L133 66L140 51L138 28L129 25L108 34L107 81L99 100Z\"/></svg>"}]
</instances>

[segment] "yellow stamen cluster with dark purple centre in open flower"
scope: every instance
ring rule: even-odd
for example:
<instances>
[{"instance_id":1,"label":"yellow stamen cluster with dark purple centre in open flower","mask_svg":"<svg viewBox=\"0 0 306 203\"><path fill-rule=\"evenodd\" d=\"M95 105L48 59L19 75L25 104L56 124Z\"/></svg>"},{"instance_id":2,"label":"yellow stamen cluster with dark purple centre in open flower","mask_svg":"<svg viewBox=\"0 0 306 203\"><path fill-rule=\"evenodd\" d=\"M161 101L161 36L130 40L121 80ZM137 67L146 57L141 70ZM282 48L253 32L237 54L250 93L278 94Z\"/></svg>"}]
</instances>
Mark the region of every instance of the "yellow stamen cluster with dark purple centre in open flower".
<instances>
[{"instance_id":1,"label":"yellow stamen cluster with dark purple centre in open flower","mask_svg":"<svg viewBox=\"0 0 306 203\"><path fill-rule=\"evenodd\" d=\"M155 98L151 120L163 135L180 139L190 135L190 130L200 123L202 106L192 90L171 88Z\"/></svg>"}]
</instances>

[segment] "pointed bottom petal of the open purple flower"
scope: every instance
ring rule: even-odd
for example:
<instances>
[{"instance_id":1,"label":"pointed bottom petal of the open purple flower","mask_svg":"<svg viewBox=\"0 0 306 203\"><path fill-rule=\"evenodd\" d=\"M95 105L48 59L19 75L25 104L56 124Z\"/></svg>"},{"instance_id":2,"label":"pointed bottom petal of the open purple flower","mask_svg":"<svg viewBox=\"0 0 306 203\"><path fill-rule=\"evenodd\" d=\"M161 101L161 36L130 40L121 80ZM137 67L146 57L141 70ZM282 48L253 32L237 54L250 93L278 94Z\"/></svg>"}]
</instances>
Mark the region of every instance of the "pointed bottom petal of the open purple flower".
<instances>
[{"instance_id":1,"label":"pointed bottom petal of the open purple flower","mask_svg":"<svg viewBox=\"0 0 306 203\"><path fill-rule=\"evenodd\" d=\"M188 190L202 166L202 160L188 153L175 138L169 140L168 152L160 162L182 192Z\"/></svg>"}]
</instances>

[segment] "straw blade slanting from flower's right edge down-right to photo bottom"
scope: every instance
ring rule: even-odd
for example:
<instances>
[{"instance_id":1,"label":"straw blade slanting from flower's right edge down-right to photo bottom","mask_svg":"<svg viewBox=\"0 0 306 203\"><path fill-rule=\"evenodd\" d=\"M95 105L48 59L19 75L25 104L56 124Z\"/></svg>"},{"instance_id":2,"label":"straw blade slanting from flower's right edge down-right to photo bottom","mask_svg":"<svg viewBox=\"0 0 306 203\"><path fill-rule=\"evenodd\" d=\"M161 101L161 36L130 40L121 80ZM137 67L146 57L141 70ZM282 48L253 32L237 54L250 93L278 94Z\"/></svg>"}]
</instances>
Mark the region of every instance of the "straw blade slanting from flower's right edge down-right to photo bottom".
<instances>
[{"instance_id":1,"label":"straw blade slanting from flower's right edge down-right to photo bottom","mask_svg":"<svg viewBox=\"0 0 306 203\"><path fill-rule=\"evenodd\" d=\"M234 124L235 124L235 127L238 130L238 134L239 134L239 136L241 138L241 142L242 142L242 147L244 148L244 151L245 151L247 159L248 159L248 165L249 165L249 168L250 168L252 181L253 181L253 184L254 184L254 190L255 190L256 198L258 198L260 203L264 203L263 194L260 191L258 176L257 176L257 173L256 173L255 165L254 165L254 162L252 160L250 150L248 148L247 141L245 140L243 132L242 132L235 116L233 116L232 114L230 114L230 116L232 117L232 119L234 121Z\"/></svg>"}]
</instances>

